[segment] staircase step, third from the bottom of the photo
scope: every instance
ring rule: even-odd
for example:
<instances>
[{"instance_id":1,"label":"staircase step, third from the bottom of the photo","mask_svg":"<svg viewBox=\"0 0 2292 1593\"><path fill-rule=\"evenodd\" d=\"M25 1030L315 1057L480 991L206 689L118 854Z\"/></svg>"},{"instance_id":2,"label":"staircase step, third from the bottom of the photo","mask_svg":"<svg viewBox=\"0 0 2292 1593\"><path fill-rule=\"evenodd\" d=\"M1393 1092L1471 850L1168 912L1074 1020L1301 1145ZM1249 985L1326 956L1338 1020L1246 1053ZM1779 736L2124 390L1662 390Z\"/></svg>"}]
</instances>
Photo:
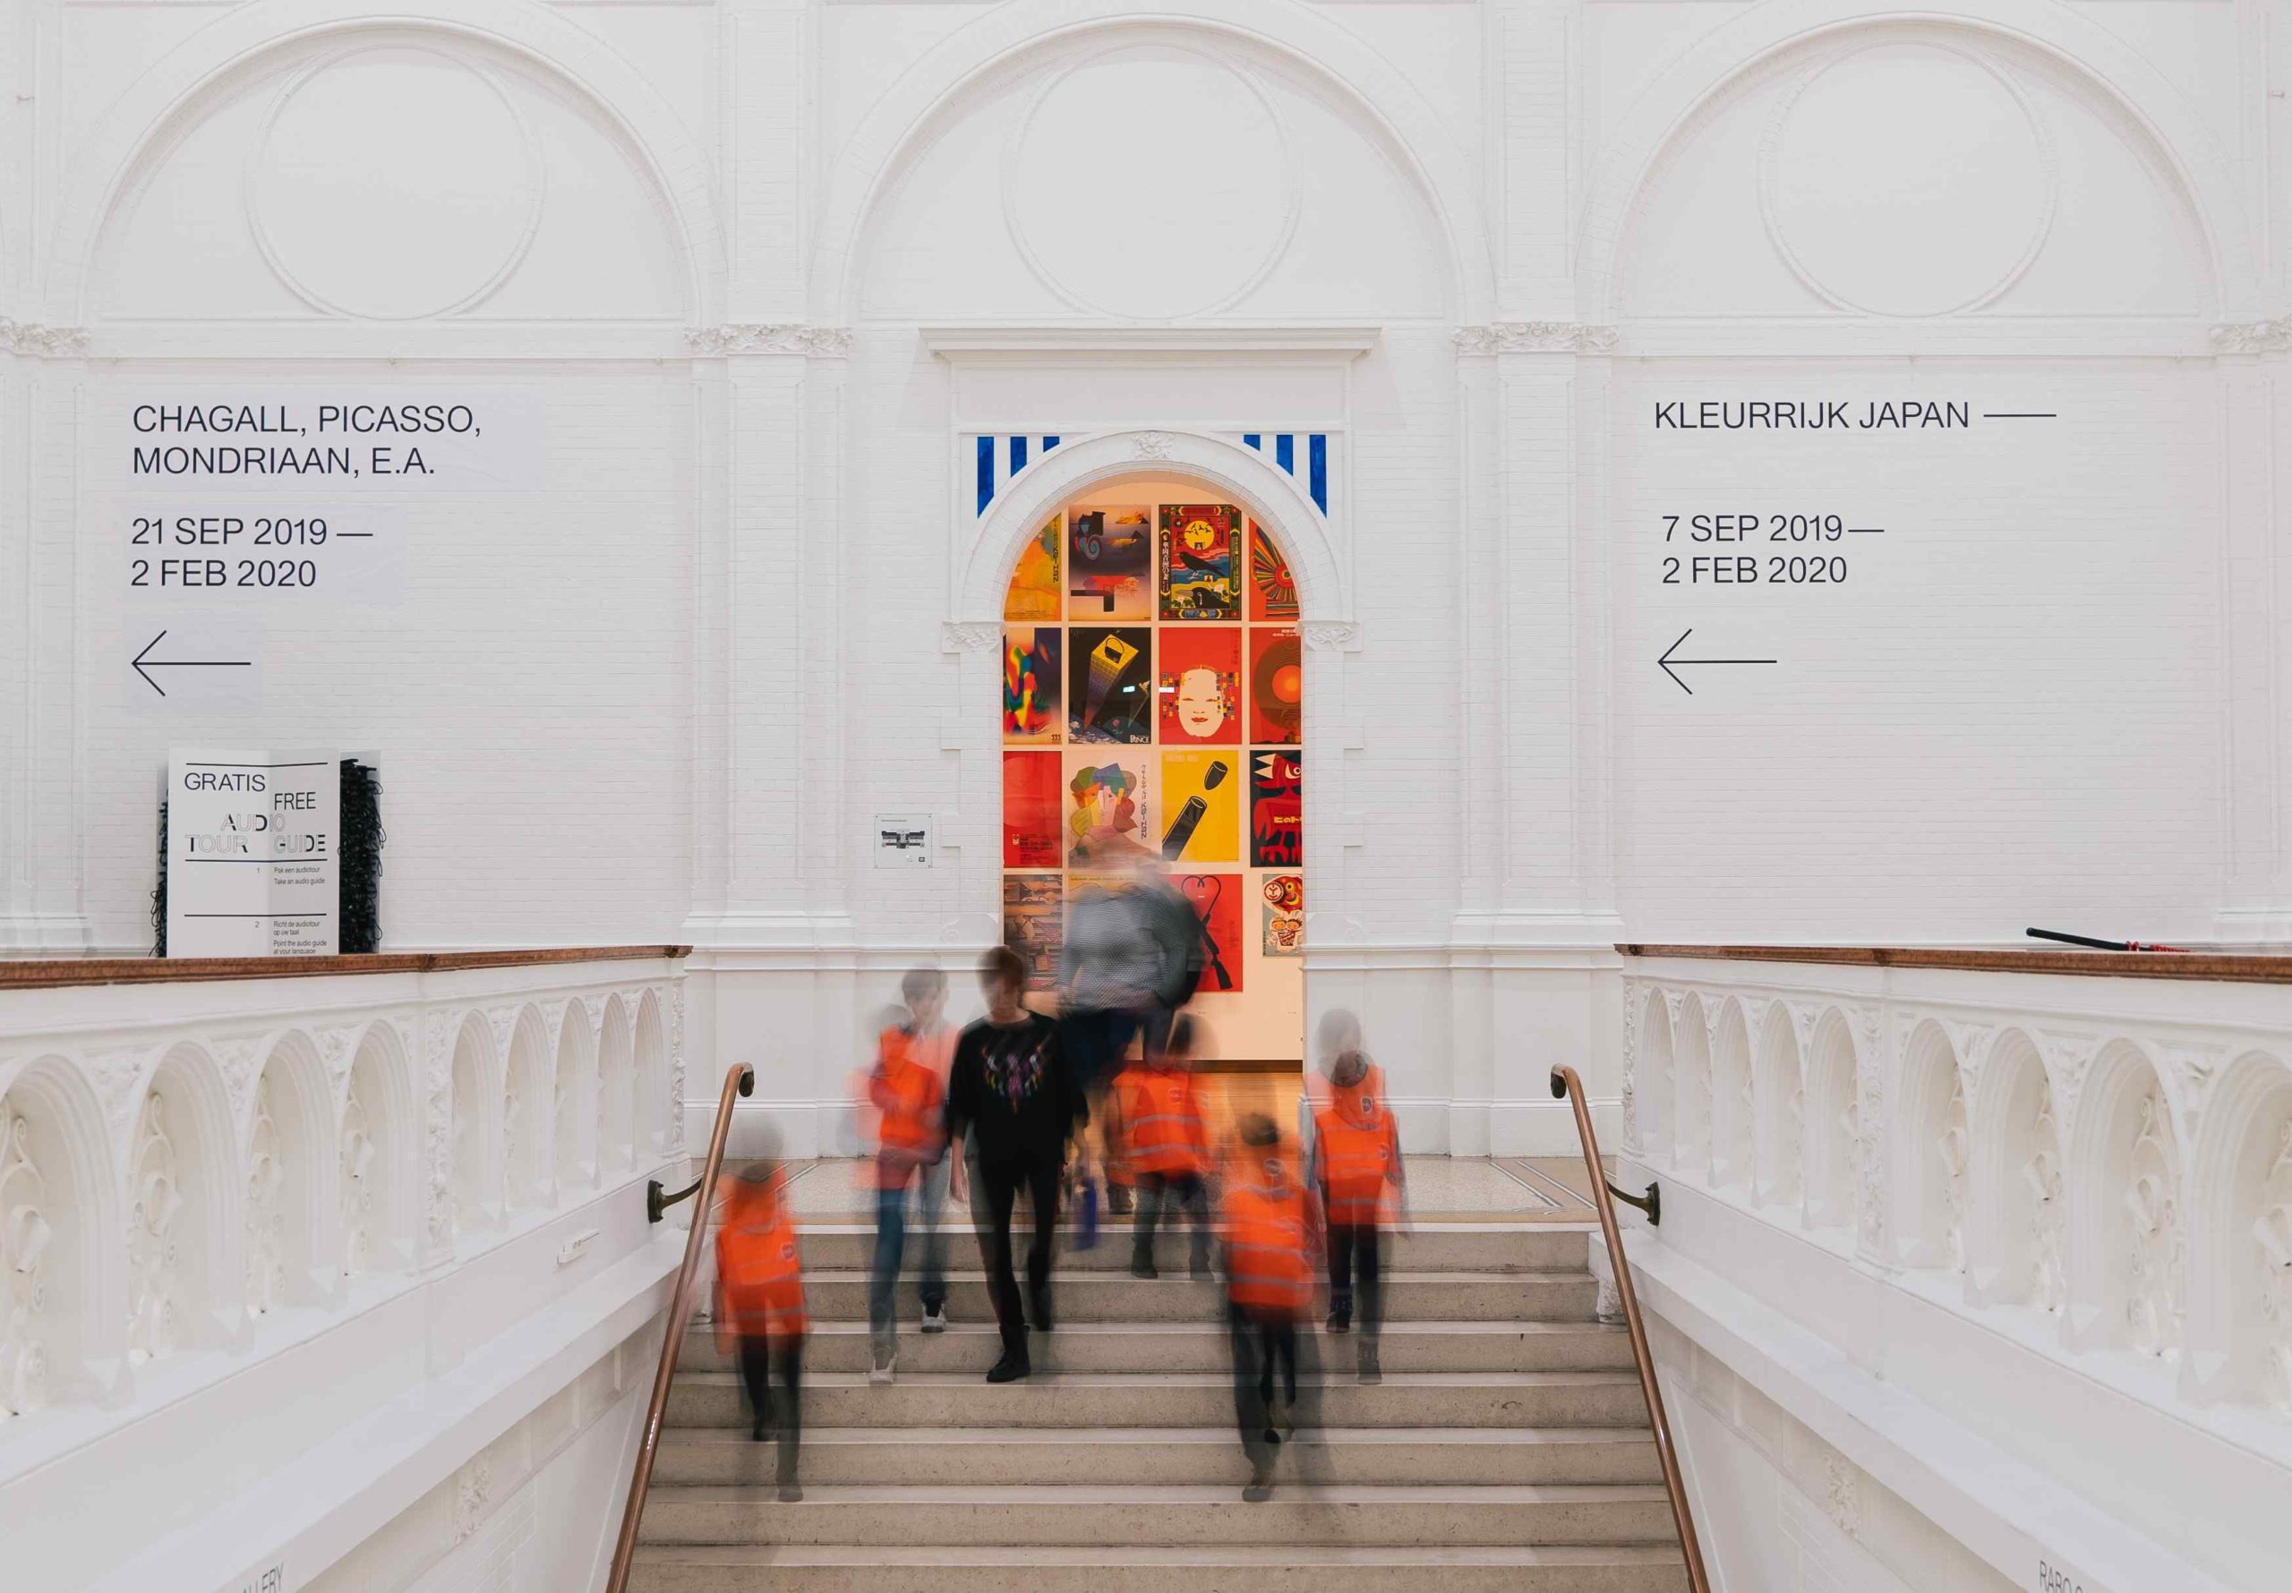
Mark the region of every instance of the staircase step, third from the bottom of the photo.
<instances>
[{"instance_id":1,"label":"staircase step, third from the bottom of the photo","mask_svg":"<svg viewBox=\"0 0 2292 1593\"><path fill-rule=\"evenodd\" d=\"M1655 1437L1641 1428L1322 1428L1306 1465L1339 1485L1659 1483ZM745 1428L662 1433L653 1485L772 1481L775 1446ZM1302 1446L1297 1451L1304 1453ZM1002 1483L1077 1478L1224 1483L1249 1462L1233 1423L1215 1428L821 1428L804 1430L809 1483Z\"/></svg>"}]
</instances>

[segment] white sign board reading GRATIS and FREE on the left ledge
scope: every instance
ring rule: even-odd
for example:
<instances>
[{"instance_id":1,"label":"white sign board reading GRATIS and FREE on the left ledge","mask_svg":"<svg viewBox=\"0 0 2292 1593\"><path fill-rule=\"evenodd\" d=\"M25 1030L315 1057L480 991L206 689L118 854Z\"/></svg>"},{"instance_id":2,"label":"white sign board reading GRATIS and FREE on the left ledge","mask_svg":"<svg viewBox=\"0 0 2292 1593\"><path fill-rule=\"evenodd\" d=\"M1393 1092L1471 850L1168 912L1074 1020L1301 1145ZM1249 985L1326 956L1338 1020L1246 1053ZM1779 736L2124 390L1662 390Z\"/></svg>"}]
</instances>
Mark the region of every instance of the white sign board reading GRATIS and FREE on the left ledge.
<instances>
[{"instance_id":1,"label":"white sign board reading GRATIS and FREE on the left ledge","mask_svg":"<svg viewBox=\"0 0 2292 1593\"><path fill-rule=\"evenodd\" d=\"M342 763L167 754L167 956L332 956Z\"/></svg>"}]
</instances>

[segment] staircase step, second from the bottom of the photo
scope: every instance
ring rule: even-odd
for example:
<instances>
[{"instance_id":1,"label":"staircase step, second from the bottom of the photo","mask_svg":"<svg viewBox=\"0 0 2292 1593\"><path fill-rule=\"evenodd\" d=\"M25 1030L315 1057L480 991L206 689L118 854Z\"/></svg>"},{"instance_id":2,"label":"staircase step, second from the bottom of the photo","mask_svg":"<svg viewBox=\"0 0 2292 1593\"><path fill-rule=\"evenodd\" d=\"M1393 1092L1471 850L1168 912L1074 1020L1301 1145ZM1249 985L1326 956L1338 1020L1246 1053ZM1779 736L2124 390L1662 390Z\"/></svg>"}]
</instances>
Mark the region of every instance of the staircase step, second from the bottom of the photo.
<instances>
[{"instance_id":1,"label":"staircase step, second from the bottom of the photo","mask_svg":"<svg viewBox=\"0 0 2292 1593\"><path fill-rule=\"evenodd\" d=\"M1311 1446L1306 1446L1311 1449ZM1309 1453L1297 1460L1311 1465ZM1646 1483L1531 1488L1281 1485L1261 1504L1215 1483L662 1488L644 1543L1664 1543L1671 1506Z\"/></svg>"}]
</instances>

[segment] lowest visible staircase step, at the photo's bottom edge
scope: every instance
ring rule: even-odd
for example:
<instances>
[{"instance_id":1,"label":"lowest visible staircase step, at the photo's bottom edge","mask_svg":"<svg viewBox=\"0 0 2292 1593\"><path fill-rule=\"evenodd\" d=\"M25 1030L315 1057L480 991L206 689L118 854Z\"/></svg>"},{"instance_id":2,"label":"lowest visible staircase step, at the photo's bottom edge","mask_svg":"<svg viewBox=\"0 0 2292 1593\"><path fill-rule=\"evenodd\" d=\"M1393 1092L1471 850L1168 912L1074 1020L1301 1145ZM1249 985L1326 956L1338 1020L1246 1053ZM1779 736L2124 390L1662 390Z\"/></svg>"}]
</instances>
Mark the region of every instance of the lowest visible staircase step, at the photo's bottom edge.
<instances>
[{"instance_id":1,"label":"lowest visible staircase step, at the photo's bottom edge","mask_svg":"<svg viewBox=\"0 0 2292 1593\"><path fill-rule=\"evenodd\" d=\"M779 1506L802 1508L802 1506ZM1249 1506L1267 1508L1267 1506ZM633 1593L1687 1593L1671 1545L963 1547L644 1545Z\"/></svg>"}]
</instances>

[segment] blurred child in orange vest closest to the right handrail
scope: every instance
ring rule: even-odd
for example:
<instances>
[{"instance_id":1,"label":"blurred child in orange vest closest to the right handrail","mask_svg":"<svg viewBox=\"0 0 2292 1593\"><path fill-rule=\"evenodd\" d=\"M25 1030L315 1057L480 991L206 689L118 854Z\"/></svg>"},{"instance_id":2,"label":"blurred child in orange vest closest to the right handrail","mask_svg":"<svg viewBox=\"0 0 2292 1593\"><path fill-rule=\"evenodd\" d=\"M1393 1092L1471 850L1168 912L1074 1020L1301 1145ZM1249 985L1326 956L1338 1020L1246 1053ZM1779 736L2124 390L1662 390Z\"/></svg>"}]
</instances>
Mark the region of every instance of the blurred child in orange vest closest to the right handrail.
<instances>
[{"instance_id":1,"label":"blurred child in orange vest closest to the right handrail","mask_svg":"<svg viewBox=\"0 0 2292 1593\"><path fill-rule=\"evenodd\" d=\"M1384 1325L1384 1229L1403 1199L1400 1130L1384 1100L1384 1073L1343 1050L1313 1080L1313 1187L1329 1222L1329 1332L1352 1329L1352 1274L1361 1274L1361 1382L1377 1382Z\"/></svg>"}]
</instances>

